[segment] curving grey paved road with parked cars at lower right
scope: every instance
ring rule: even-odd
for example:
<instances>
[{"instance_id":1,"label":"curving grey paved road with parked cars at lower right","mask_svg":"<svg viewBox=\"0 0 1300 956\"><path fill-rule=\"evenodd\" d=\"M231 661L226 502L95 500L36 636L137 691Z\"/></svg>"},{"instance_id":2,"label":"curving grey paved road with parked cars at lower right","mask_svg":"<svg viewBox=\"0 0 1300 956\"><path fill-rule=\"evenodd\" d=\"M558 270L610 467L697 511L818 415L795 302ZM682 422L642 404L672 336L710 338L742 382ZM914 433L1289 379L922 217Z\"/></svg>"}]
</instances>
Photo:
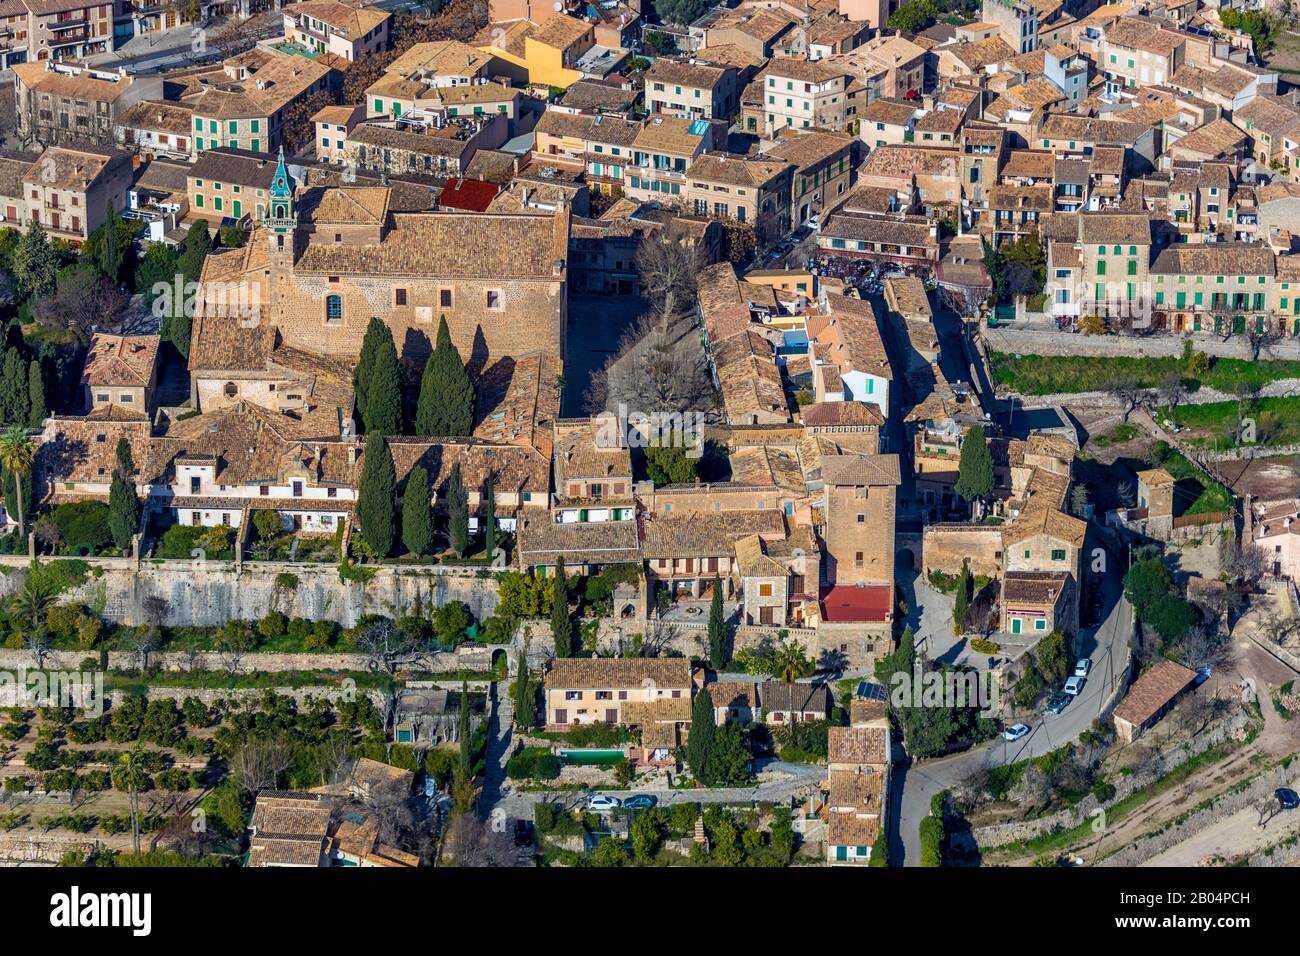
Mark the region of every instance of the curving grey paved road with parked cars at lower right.
<instances>
[{"instance_id":1,"label":"curving grey paved road with parked cars at lower right","mask_svg":"<svg viewBox=\"0 0 1300 956\"><path fill-rule=\"evenodd\" d=\"M930 813L930 800L935 793L952 788L979 767L1015 763L1054 750L1078 739L1097 719L1122 678L1132 631L1132 607L1121 593L1118 570L1104 579L1106 617L1101 626L1095 631L1080 631L1079 653L1092 659L1092 672L1083 692L1061 714L1024 719L1032 730L1015 743L998 737L952 757L896 767L887 814L890 858L904 866L920 865L920 821Z\"/></svg>"}]
</instances>

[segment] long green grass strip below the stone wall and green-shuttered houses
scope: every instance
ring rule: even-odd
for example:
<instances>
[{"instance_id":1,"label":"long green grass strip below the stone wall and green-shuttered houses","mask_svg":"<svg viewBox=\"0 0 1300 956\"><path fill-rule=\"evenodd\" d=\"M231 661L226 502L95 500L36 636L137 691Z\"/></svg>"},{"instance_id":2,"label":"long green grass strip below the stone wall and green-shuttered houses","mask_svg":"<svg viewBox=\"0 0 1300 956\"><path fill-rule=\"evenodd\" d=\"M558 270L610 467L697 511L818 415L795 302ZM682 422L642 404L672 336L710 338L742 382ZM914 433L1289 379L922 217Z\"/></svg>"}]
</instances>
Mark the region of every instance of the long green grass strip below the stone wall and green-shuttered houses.
<instances>
[{"instance_id":1,"label":"long green grass strip below the stone wall and green-shuttered houses","mask_svg":"<svg viewBox=\"0 0 1300 956\"><path fill-rule=\"evenodd\" d=\"M991 352L993 381L1022 395L1048 395L1058 392L1101 392L1117 378L1132 378L1154 389L1170 372L1183 376L1190 389L1201 385L1231 393L1238 382L1265 385L1278 378L1300 378L1300 362L1247 362L1216 359L1200 380L1187 373L1182 359L1136 359L1091 355L1020 355Z\"/></svg>"}]
</instances>

